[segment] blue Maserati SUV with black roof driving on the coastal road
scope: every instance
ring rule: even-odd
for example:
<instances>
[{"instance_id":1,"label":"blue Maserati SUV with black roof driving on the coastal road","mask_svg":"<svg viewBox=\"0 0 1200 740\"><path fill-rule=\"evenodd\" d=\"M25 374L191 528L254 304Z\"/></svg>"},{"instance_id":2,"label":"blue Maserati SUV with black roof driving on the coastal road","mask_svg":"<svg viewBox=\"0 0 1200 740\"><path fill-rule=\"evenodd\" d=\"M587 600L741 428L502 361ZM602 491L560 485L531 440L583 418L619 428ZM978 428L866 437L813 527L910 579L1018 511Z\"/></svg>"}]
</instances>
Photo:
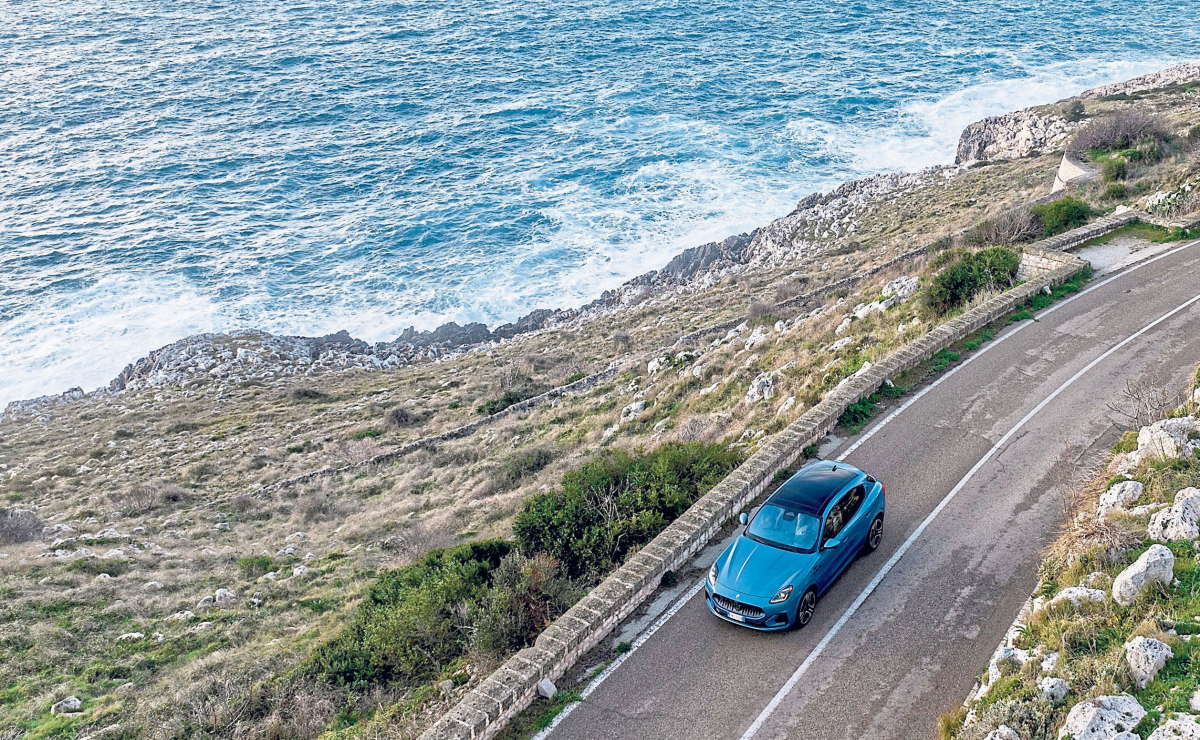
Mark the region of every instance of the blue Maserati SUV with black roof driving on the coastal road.
<instances>
[{"instance_id":1,"label":"blue Maserati SUV with black roof driving on the coastal road","mask_svg":"<svg viewBox=\"0 0 1200 740\"><path fill-rule=\"evenodd\" d=\"M812 619L817 597L859 552L883 540L883 483L845 463L817 461L793 475L713 562L708 609L755 630Z\"/></svg>"}]
</instances>

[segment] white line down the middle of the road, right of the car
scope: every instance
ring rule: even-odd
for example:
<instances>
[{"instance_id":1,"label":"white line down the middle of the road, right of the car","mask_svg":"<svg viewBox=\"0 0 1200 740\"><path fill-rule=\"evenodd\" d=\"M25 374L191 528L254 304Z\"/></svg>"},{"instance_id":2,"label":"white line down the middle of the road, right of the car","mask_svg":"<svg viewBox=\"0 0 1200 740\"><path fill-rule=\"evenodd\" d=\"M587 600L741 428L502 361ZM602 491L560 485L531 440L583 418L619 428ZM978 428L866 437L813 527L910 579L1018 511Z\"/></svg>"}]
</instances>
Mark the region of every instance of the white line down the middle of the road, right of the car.
<instances>
[{"instance_id":1,"label":"white line down the middle of the road, right of the car","mask_svg":"<svg viewBox=\"0 0 1200 740\"><path fill-rule=\"evenodd\" d=\"M1055 389L1052 393L1042 399L1042 402L1038 403L1038 405L1033 407L1033 409L1028 414L1026 414L1024 419L1016 422L1016 426L1006 432L1004 435L1001 437L1000 440L995 445L992 445L992 447L988 450L988 452L982 458L979 458L979 462L977 462L974 467L971 468L970 471L967 471L967 474L962 477L962 480L960 480L954 486L954 488L952 488L950 492L946 494L946 498L937 504L937 507L935 507L934 511L929 512L929 516L925 517L925 519L917 527L917 529L913 530L911 535L908 535L908 539L905 540L904 545L901 545L900 548L895 553L893 553L892 558L889 558L888 561L883 565L883 567L880 568L880 572L875 574L875 578L872 578L871 582L866 584L866 588L863 589L863 591L858 595L858 598L854 600L854 603L850 604L850 607L842 613L841 618L838 619L834 626L830 627L828 632L826 632L824 637L821 638L821 642L817 643L816 648L812 649L812 652L810 652L809 656L804 658L804 662L800 663L800 667L796 669L796 673L793 673L791 678L787 679L787 682L784 684L784 687L779 690L779 692L770 699L770 703L767 704L766 709L763 709L762 712L758 714L758 717L755 718L755 721L750 724L746 732L742 734L742 740L750 740L758 733L760 729L762 729L763 723L773 714L775 714L775 710L779 709L780 703L782 703L784 698L787 697L787 694L791 693L792 688L796 687L796 684L800 680L800 676L803 676L808 672L808 669L812 666L812 663L816 662L817 657L821 656L826 646L830 642L833 642L833 638L838 634L838 632L841 631L842 626L850 620L851 616L854 615L854 612L858 610L858 607L863 606L863 602L866 601L866 597L871 595L871 591L874 591L876 586L880 585L880 582L882 582L883 578L888 574L888 572L890 572L892 568L895 567L900 558L902 558L904 554L908 552L908 548L912 547L913 542L916 542L918 537L920 537L922 533L925 531L925 528L928 528L934 522L934 519L937 518L937 515L940 515L942 510L946 509L946 506L954 499L954 497L958 495L960 491L962 491L962 488L967 485L967 482L970 482L971 479L974 477L974 474L978 473L979 469L983 468L988 463L988 461L990 461L996 455L996 452L998 452L1000 449L1003 447L1004 444L1009 439L1012 439L1012 437L1016 434L1018 431L1020 431L1021 427L1028 423L1031 419L1033 419L1051 401L1057 398L1063 391L1074 385L1074 383L1080 378L1082 378L1085 373L1091 371L1093 367L1096 367L1104 360L1108 360L1110 356L1112 356L1114 353L1118 351L1126 344L1129 344L1141 335L1146 333L1151 329L1158 326L1166 319L1188 308L1189 306L1192 306L1198 301L1200 301L1200 295L1184 301L1180 306L1158 317L1150 324L1146 324L1135 333L1132 333L1121 342L1118 342L1117 344L1114 344L1111 348L1108 349L1108 351L1105 351L1099 357L1088 362L1086 366L1084 366L1081 371L1072 375L1069 380L1067 380L1057 389Z\"/></svg>"}]
</instances>

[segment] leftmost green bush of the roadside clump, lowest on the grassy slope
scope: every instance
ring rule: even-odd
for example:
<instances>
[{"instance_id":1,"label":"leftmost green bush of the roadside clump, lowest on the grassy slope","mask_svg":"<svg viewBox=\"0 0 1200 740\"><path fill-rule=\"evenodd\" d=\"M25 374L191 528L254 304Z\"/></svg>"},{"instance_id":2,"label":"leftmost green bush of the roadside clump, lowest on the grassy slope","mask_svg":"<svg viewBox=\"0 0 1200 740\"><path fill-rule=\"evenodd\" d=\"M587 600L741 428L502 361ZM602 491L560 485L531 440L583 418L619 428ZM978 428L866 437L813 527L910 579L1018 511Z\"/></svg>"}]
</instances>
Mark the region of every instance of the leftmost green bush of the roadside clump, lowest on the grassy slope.
<instances>
[{"instance_id":1,"label":"leftmost green bush of the roadside clump, lowest on the grassy slope","mask_svg":"<svg viewBox=\"0 0 1200 740\"><path fill-rule=\"evenodd\" d=\"M466 654L470 613L487 597L492 573L510 551L503 540L473 542L385 572L350 624L313 650L301 672L348 686L434 679Z\"/></svg>"}]
</instances>

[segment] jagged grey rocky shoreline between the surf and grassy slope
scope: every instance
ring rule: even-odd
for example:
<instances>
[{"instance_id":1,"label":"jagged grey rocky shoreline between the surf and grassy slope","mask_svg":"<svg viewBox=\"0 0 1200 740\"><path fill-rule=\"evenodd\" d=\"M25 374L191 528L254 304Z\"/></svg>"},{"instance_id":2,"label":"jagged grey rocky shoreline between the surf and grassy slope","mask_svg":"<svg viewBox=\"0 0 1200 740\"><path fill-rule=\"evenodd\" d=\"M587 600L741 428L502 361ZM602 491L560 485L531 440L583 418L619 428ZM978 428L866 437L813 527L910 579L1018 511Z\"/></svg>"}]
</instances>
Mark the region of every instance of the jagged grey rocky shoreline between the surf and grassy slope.
<instances>
[{"instance_id":1,"label":"jagged grey rocky shoreline between the surf and grassy slope","mask_svg":"<svg viewBox=\"0 0 1200 740\"><path fill-rule=\"evenodd\" d=\"M1128 96L1198 78L1200 64L1188 64L1087 90L1068 100ZM324 337L275 336L253 329L196 335L126 366L107 387L92 393L186 385L199 378L253 381L341 369L396 368L486 350L520 335L588 321L654 296L706 290L731 275L835 251L856 241L862 216L869 209L902 198L930 181L952 180L980 161L1015 160L1054 151L1062 146L1075 126L1061 110L1045 106L972 124L960 137L955 164L878 174L846 182L828 193L814 193L802 199L791 213L764 227L685 249L661 270L634 277L578 308L539 308L496 329L480 323L466 326L449 323L433 331L409 327L396 339L376 344L356 339L346 331ZM4 415L36 413L40 408L86 395L76 387L60 395L16 401L7 405Z\"/></svg>"}]
</instances>

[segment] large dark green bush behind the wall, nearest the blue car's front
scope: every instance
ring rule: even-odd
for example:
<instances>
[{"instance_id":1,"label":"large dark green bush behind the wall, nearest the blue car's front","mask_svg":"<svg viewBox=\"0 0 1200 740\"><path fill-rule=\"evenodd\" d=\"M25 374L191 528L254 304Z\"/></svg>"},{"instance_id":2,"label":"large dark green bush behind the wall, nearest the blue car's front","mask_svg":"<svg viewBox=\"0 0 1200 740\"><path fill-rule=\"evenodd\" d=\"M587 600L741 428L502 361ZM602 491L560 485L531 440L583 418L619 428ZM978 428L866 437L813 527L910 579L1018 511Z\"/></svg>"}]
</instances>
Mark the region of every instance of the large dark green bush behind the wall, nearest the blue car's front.
<instances>
[{"instance_id":1,"label":"large dark green bush behind the wall, nearest the blue car's front","mask_svg":"<svg viewBox=\"0 0 1200 740\"><path fill-rule=\"evenodd\" d=\"M571 578L599 576L653 540L742 462L721 444L610 451L526 501L512 527L524 552L554 556Z\"/></svg>"}]
</instances>

